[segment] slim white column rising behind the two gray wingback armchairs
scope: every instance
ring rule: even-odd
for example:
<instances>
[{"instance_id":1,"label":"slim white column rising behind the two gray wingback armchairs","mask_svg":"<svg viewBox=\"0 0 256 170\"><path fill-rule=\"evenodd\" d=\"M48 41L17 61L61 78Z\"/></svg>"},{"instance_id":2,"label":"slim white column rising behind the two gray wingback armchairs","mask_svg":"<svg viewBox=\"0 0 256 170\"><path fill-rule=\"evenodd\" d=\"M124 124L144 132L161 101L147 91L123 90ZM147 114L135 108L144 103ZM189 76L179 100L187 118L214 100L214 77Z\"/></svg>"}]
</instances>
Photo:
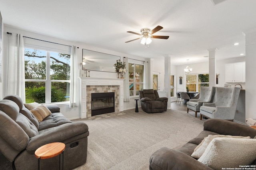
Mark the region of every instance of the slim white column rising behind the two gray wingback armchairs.
<instances>
[{"instance_id":1,"label":"slim white column rising behind the two gray wingback armchairs","mask_svg":"<svg viewBox=\"0 0 256 170\"><path fill-rule=\"evenodd\" d=\"M209 51L209 87L215 86L216 85L216 60L215 60L215 52L218 49L213 48L213 49L208 49Z\"/></svg>"}]
</instances>

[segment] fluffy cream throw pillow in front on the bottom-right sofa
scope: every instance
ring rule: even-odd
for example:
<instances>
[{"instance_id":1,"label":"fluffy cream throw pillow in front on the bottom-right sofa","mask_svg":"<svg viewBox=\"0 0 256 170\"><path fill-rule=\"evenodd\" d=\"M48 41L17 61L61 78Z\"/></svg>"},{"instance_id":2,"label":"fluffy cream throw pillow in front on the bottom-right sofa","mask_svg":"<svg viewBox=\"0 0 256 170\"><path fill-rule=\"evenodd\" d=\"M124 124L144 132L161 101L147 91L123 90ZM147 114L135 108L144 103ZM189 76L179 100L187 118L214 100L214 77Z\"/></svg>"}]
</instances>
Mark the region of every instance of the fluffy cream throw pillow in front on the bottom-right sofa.
<instances>
[{"instance_id":1,"label":"fluffy cream throw pillow in front on the bottom-right sofa","mask_svg":"<svg viewBox=\"0 0 256 170\"><path fill-rule=\"evenodd\" d=\"M256 159L256 140L218 137L213 139L199 162L213 168L239 168L250 165Z\"/></svg>"}]
</instances>

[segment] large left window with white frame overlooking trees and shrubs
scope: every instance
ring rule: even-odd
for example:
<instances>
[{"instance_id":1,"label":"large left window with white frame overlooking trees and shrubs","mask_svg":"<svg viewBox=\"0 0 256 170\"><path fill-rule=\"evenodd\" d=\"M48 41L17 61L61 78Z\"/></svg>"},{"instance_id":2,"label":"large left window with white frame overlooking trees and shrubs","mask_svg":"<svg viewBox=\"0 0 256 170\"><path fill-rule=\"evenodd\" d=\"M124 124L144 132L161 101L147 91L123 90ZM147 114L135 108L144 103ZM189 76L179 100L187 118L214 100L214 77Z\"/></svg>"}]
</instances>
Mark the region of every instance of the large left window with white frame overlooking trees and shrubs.
<instances>
[{"instance_id":1,"label":"large left window with white frame overlooking trees and shrubs","mask_svg":"<svg viewBox=\"0 0 256 170\"><path fill-rule=\"evenodd\" d=\"M70 55L25 48L26 103L69 101Z\"/></svg>"}]
</instances>

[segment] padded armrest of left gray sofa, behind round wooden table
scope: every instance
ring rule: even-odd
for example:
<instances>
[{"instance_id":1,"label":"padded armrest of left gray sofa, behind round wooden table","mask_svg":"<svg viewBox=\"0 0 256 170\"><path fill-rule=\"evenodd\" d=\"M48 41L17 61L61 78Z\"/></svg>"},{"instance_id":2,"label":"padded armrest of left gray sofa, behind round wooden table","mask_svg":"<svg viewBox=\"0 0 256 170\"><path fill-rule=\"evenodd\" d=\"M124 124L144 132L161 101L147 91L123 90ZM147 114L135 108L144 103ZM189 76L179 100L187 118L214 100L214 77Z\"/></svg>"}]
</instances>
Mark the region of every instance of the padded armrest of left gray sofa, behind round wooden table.
<instances>
[{"instance_id":1,"label":"padded armrest of left gray sofa, behind round wooden table","mask_svg":"<svg viewBox=\"0 0 256 170\"><path fill-rule=\"evenodd\" d=\"M26 150L30 154L34 154L36 149L45 144L62 142L83 133L87 133L87 136L89 135L88 126L83 122L66 123L57 127L52 127L44 130L39 135L30 138Z\"/></svg>"}]
</instances>

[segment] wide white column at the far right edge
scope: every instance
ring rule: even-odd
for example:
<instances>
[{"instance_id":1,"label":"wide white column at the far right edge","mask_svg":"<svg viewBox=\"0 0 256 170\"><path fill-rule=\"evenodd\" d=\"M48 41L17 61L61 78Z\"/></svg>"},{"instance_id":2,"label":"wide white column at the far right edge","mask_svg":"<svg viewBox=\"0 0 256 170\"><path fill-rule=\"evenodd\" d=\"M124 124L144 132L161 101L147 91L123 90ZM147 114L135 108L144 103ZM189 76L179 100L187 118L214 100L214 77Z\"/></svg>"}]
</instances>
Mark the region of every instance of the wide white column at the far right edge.
<instances>
[{"instance_id":1,"label":"wide white column at the far right edge","mask_svg":"<svg viewBox=\"0 0 256 170\"><path fill-rule=\"evenodd\" d=\"M245 64L246 64L246 89L245 89L245 119L256 118L256 78L255 78L255 56L256 56L256 28L245 31Z\"/></svg>"}]
</instances>

